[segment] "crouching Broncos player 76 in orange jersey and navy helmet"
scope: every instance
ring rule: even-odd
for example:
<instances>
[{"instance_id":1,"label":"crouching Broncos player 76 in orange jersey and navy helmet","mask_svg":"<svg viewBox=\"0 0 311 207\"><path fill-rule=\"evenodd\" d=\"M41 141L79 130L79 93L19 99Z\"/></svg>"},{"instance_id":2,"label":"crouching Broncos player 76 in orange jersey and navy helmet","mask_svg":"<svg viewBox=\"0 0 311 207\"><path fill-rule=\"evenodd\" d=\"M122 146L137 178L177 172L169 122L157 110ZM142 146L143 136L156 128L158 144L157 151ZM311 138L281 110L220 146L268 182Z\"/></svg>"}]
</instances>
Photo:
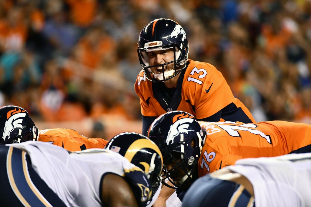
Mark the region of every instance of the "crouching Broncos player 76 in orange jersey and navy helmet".
<instances>
[{"instance_id":1,"label":"crouching Broncos player 76 in orange jersey and navy helmet","mask_svg":"<svg viewBox=\"0 0 311 207\"><path fill-rule=\"evenodd\" d=\"M238 159L311 152L310 134L311 125L303 123L197 122L182 111L161 115L148 131L163 155L163 179L168 178L178 193Z\"/></svg>"}]
</instances>

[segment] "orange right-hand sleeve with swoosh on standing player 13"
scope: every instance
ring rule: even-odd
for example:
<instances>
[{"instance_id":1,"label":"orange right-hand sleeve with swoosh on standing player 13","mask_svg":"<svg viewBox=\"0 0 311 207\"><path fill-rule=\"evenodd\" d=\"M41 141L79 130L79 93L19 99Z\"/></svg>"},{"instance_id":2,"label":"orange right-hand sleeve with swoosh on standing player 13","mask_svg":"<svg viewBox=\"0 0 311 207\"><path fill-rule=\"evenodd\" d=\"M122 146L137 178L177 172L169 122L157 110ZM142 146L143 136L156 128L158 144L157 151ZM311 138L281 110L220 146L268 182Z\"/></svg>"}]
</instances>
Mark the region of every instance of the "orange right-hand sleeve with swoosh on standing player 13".
<instances>
[{"instance_id":1,"label":"orange right-hand sleeve with swoosh on standing player 13","mask_svg":"<svg viewBox=\"0 0 311 207\"><path fill-rule=\"evenodd\" d=\"M211 67L212 70L207 70L207 76L202 79L202 87L196 83L196 94L193 96L197 119L210 117L235 100L225 78L215 67ZM194 73L194 76L198 74Z\"/></svg>"}]
</instances>

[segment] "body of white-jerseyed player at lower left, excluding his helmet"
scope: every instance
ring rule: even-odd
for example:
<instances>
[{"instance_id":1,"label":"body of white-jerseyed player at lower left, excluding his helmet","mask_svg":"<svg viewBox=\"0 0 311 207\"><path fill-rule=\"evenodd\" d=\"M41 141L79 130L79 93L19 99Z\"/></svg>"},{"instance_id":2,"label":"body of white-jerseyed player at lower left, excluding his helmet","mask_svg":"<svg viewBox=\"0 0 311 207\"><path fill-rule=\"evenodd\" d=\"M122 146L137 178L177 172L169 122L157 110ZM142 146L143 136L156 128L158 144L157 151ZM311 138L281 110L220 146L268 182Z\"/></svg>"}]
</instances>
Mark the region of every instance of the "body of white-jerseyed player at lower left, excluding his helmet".
<instances>
[{"instance_id":1,"label":"body of white-jerseyed player at lower left, excluding his helmet","mask_svg":"<svg viewBox=\"0 0 311 207\"><path fill-rule=\"evenodd\" d=\"M2 206L146 206L151 183L111 150L70 152L44 142L0 146Z\"/></svg>"}]
</instances>

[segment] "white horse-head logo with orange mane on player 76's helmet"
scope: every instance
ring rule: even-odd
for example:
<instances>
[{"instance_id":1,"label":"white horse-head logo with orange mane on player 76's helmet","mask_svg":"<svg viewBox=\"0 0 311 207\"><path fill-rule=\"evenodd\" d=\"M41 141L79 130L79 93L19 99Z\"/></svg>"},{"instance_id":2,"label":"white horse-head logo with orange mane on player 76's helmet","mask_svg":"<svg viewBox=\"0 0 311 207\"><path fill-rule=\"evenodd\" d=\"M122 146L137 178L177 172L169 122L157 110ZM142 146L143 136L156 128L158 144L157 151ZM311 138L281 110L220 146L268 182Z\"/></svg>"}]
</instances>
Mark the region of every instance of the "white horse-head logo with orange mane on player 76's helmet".
<instances>
[{"instance_id":1,"label":"white horse-head logo with orange mane on player 76's helmet","mask_svg":"<svg viewBox=\"0 0 311 207\"><path fill-rule=\"evenodd\" d=\"M166 144L169 145L174 143L174 138L178 136L181 132L188 134L188 123L194 121L193 116L189 116L187 113L178 114L173 117L173 124L169 128L169 133L166 138Z\"/></svg>"}]
</instances>

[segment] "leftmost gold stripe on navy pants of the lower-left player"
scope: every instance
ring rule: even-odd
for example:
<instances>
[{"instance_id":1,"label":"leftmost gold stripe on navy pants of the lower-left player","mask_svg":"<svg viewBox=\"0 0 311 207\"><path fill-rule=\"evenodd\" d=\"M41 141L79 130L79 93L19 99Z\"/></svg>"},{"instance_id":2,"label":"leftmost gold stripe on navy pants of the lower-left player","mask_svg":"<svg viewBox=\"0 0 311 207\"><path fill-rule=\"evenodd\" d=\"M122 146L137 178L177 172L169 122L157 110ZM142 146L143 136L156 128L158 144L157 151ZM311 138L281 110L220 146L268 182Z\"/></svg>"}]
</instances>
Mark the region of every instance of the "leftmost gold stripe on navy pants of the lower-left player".
<instances>
[{"instance_id":1,"label":"leftmost gold stripe on navy pants of the lower-left player","mask_svg":"<svg viewBox=\"0 0 311 207\"><path fill-rule=\"evenodd\" d=\"M15 195L17 196L17 198L21 201L21 203L26 207L31 207L29 203L25 200L25 198L21 195L20 191L18 190L15 184L13 173L12 173L12 152L13 152L13 147L10 147L7 153L7 174L9 177L10 185Z\"/></svg>"}]
</instances>

